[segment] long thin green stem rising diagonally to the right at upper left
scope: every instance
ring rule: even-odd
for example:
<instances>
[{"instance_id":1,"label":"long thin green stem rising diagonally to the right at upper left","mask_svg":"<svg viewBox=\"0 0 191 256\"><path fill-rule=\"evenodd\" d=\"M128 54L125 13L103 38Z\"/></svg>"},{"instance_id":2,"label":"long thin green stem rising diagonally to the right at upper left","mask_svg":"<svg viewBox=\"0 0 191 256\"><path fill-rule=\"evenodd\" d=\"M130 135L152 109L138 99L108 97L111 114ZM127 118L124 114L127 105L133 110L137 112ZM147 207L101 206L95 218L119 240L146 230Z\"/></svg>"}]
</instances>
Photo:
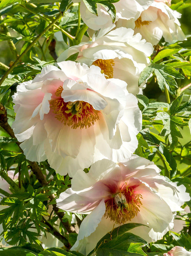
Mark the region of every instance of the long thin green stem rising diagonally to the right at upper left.
<instances>
[{"instance_id":1,"label":"long thin green stem rising diagonally to the right at upper left","mask_svg":"<svg viewBox=\"0 0 191 256\"><path fill-rule=\"evenodd\" d=\"M3 81L7 78L8 74L11 73L11 71L15 68L16 64L19 63L19 61L23 58L23 56L36 44L36 42L41 38L41 36L46 33L54 24L62 17L62 13L60 13L57 18L55 18L54 21L52 21L49 26L47 26L33 41L32 43L21 53L21 55L16 59L16 61L12 64L12 66L6 71L2 79L0 80L0 86L2 85Z\"/></svg>"}]
</instances>

